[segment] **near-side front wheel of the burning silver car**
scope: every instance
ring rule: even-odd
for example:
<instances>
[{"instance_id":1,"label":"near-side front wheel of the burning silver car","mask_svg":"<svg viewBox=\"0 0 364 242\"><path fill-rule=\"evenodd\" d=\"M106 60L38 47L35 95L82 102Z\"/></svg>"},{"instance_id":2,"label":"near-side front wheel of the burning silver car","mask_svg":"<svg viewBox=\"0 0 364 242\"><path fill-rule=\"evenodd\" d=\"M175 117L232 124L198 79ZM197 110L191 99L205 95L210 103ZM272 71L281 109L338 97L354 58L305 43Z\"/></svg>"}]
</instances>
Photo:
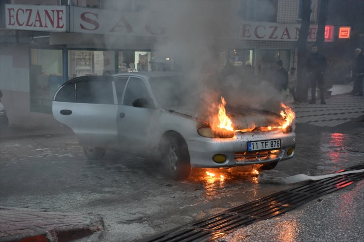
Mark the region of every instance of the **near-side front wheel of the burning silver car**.
<instances>
[{"instance_id":1,"label":"near-side front wheel of the burning silver car","mask_svg":"<svg viewBox=\"0 0 364 242\"><path fill-rule=\"evenodd\" d=\"M167 175L174 180L186 179L191 172L188 147L182 137L167 135L161 143L161 157Z\"/></svg>"}]
</instances>

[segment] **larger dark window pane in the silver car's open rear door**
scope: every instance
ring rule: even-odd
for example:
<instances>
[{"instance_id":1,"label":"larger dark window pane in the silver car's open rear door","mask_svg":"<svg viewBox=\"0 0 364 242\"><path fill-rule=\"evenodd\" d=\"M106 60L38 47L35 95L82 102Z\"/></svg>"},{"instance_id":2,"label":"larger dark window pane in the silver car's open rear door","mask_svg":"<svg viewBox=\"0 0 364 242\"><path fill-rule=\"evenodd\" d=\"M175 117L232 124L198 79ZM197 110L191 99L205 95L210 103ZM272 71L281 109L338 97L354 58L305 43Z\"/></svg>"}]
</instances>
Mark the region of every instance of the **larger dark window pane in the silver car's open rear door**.
<instances>
[{"instance_id":1,"label":"larger dark window pane in the silver car's open rear door","mask_svg":"<svg viewBox=\"0 0 364 242\"><path fill-rule=\"evenodd\" d=\"M112 79L89 79L76 82L76 103L114 104Z\"/></svg>"}]
</instances>

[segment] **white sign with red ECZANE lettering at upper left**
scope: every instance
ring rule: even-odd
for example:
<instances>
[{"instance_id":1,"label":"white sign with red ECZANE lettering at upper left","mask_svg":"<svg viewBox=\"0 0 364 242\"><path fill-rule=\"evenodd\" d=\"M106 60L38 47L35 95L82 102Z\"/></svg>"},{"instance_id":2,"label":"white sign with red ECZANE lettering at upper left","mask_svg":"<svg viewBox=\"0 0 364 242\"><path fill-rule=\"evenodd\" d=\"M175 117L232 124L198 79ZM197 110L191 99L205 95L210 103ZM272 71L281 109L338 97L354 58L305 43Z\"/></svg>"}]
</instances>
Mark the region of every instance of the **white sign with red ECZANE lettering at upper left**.
<instances>
[{"instance_id":1,"label":"white sign with red ECZANE lettering at upper left","mask_svg":"<svg viewBox=\"0 0 364 242\"><path fill-rule=\"evenodd\" d=\"M66 6L5 4L6 28L65 32L66 22Z\"/></svg>"}]
</instances>

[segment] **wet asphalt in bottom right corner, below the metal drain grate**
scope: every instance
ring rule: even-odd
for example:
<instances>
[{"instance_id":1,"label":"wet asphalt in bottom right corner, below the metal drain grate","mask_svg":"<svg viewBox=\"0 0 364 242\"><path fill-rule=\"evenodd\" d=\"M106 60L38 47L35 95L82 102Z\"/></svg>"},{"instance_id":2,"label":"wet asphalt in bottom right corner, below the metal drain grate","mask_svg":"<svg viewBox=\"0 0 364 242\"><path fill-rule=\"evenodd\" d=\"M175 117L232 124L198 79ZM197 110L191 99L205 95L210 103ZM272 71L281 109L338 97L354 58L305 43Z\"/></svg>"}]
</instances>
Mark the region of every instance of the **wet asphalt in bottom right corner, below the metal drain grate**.
<instances>
[{"instance_id":1,"label":"wet asphalt in bottom right corner, below the metal drain grate","mask_svg":"<svg viewBox=\"0 0 364 242\"><path fill-rule=\"evenodd\" d=\"M324 195L275 218L261 220L217 242L363 242L364 181Z\"/></svg>"}]
</instances>

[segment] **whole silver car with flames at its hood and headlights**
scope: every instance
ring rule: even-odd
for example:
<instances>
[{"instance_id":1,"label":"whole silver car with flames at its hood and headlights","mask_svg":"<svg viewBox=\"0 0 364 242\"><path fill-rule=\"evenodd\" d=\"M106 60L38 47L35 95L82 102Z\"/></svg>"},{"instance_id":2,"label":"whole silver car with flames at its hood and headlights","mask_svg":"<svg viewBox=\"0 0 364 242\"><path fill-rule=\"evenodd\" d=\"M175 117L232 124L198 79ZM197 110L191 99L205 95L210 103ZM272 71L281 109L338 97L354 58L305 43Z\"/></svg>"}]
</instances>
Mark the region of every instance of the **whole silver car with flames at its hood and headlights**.
<instances>
[{"instance_id":1,"label":"whole silver car with flames at its hood and headlights","mask_svg":"<svg viewBox=\"0 0 364 242\"><path fill-rule=\"evenodd\" d=\"M73 130L88 159L137 148L160 158L176 180L194 167L268 170L294 156L294 113L284 104L281 113L225 109L221 97L216 117L204 119L179 107L181 83L171 72L78 77L55 93L53 115Z\"/></svg>"}]
</instances>

